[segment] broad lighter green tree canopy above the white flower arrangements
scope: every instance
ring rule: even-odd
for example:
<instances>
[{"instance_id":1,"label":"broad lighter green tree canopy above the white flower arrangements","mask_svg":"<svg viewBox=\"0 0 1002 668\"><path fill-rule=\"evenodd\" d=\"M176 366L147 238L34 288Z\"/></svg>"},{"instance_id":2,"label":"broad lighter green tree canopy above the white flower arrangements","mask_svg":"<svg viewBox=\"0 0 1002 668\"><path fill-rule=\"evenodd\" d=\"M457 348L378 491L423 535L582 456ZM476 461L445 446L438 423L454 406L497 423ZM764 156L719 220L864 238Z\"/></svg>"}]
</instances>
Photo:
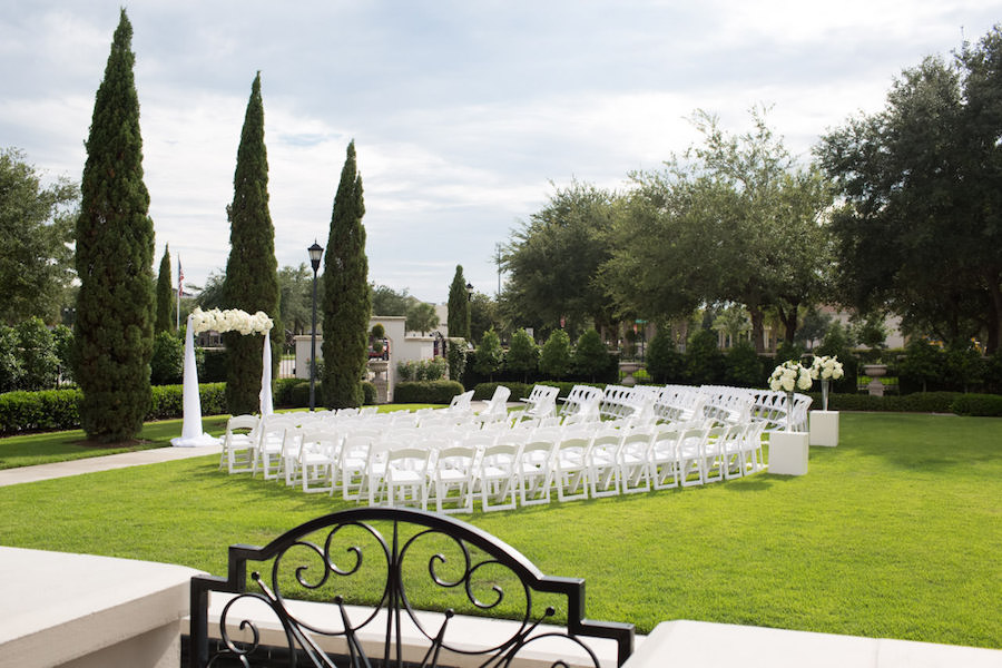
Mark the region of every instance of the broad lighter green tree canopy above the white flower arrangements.
<instances>
[{"instance_id":1,"label":"broad lighter green tree canopy above the white flower arrangements","mask_svg":"<svg viewBox=\"0 0 1002 668\"><path fill-rule=\"evenodd\" d=\"M774 307L793 341L799 306L825 295L832 194L816 168L797 165L763 110L737 136L704 111L692 120L703 144L632 175L602 267L607 291L620 311L650 318L743 304L757 350Z\"/></svg>"}]
</instances>

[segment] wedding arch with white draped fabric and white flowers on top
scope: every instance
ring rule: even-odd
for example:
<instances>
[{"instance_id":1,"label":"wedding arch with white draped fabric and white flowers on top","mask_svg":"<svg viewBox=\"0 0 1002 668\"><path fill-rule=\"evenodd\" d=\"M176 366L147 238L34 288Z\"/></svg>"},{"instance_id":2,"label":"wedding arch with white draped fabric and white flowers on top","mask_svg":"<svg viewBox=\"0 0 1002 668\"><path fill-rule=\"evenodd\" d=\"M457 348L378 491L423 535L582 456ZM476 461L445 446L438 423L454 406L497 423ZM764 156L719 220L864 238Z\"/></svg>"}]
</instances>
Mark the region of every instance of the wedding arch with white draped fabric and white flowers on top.
<instances>
[{"instance_id":1,"label":"wedding arch with white draped fabric and white flowers on top","mask_svg":"<svg viewBox=\"0 0 1002 668\"><path fill-rule=\"evenodd\" d=\"M272 405L272 327L275 323L262 311L254 315L237 308L220 311L203 311L195 308L187 321L185 333L185 375L184 375L184 415L181 435L171 439L175 448L194 448L196 445L215 445L219 440L202 431L202 402L198 396L198 369L195 365L195 334L216 331L239 332L243 335L263 334L264 351L262 352L261 369L261 414L271 415Z\"/></svg>"}]
</instances>

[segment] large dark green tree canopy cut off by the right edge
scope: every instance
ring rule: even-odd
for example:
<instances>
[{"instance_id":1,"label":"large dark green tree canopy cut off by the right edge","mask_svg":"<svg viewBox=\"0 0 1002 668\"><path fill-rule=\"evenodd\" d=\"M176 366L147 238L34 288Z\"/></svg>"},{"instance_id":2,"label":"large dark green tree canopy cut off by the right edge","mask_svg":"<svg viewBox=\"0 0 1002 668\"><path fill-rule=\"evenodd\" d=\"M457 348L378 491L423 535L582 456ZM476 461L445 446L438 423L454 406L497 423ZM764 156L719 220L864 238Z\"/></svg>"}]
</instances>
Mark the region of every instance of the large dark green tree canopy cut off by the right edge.
<instances>
[{"instance_id":1,"label":"large dark green tree canopy cut off by the right edge","mask_svg":"<svg viewBox=\"0 0 1002 668\"><path fill-rule=\"evenodd\" d=\"M1002 326L1002 32L906 69L885 108L822 138L843 299L947 342Z\"/></svg>"}]
</instances>

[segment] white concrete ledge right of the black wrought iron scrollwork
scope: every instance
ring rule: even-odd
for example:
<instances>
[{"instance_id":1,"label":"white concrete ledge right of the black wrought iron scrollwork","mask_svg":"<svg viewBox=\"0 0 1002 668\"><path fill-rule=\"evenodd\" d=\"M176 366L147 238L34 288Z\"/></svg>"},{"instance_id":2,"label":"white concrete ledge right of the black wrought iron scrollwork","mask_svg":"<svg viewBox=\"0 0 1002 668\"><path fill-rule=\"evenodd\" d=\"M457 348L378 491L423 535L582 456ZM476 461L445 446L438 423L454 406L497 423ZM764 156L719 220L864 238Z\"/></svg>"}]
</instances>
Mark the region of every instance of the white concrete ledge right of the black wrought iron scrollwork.
<instances>
[{"instance_id":1,"label":"white concrete ledge right of the black wrought iron scrollwork","mask_svg":"<svg viewBox=\"0 0 1002 668\"><path fill-rule=\"evenodd\" d=\"M1000 668L1002 651L763 627L665 621L623 668Z\"/></svg>"}]
</instances>

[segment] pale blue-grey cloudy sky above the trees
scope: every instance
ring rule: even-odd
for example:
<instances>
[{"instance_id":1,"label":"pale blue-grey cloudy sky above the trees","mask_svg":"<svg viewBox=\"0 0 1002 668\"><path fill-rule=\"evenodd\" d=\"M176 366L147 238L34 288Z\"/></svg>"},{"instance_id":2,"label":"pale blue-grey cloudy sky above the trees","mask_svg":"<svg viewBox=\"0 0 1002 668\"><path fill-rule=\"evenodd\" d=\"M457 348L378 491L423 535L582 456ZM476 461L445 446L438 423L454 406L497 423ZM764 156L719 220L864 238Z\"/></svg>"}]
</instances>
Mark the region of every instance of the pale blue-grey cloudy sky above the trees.
<instances>
[{"instance_id":1,"label":"pale blue-grey cloudy sky above the trees","mask_svg":"<svg viewBox=\"0 0 1002 668\"><path fill-rule=\"evenodd\" d=\"M0 0L0 147L79 180L122 0ZM622 187L748 109L809 158L893 78L1002 21L1002 0L141 0L134 28L157 257L189 283L229 253L225 207L262 72L279 266L326 244L345 148L365 188L370 279L448 297L554 187ZM176 266L176 265L175 265ZM176 269L175 269L176 271Z\"/></svg>"}]
</instances>

